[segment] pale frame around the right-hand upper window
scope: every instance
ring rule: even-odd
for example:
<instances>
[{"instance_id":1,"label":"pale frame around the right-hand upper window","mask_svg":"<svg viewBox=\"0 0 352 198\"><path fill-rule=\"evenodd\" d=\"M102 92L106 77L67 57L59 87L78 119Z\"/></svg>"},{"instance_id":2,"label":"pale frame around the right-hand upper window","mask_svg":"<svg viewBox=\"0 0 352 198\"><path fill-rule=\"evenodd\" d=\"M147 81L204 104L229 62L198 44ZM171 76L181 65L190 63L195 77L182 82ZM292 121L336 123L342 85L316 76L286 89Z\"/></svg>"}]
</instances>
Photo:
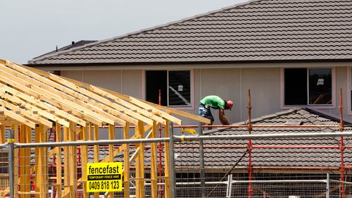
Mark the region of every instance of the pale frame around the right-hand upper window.
<instances>
[{"instance_id":1,"label":"pale frame around the right-hand upper window","mask_svg":"<svg viewBox=\"0 0 352 198\"><path fill-rule=\"evenodd\" d=\"M284 104L284 69L281 68L280 89L281 89L281 109L291 109L299 107L309 107L310 109L336 109L336 71L335 67L299 67L299 68L331 68L332 69L332 104L307 104L307 105L285 105ZM307 74L309 75L309 74ZM309 78L307 79L309 80ZM308 84L307 84L308 85ZM308 89L309 92L309 89Z\"/></svg>"}]
</instances>

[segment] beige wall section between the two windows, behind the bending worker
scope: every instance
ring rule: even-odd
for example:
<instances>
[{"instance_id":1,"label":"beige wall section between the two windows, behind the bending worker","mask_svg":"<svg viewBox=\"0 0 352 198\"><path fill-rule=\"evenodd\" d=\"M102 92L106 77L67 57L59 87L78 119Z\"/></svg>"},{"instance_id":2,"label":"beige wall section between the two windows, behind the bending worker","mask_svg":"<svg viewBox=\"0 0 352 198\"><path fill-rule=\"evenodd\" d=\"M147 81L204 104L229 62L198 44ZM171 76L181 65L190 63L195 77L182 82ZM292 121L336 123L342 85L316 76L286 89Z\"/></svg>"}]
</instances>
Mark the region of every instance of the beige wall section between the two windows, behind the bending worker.
<instances>
[{"instance_id":1,"label":"beige wall section between the two windows, behind the bending worker","mask_svg":"<svg viewBox=\"0 0 352 198\"><path fill-rule=\"evenodd\" d=\"M279 68L199 69L200 84L196 101L209 94L232 100L234 108L225 111L227 120L236 123L248 118L248 95L251 91L251 116L256 118L279 109ZM197 95L198 94L198 95ZM200 96L200 97L199 97ZM218 111L212 111L214 124L220 124ZM197 113L197 112L194 112Z\"/></svg>"}]
</instances>

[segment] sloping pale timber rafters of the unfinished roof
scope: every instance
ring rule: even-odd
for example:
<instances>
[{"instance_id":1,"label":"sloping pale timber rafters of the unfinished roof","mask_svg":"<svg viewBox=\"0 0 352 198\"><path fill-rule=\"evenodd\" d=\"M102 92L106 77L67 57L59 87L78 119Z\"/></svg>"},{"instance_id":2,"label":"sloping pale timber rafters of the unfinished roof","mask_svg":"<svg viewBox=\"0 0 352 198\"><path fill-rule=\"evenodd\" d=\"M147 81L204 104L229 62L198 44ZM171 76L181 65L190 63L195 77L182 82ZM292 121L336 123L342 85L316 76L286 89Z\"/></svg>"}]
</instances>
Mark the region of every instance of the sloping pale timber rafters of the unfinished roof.
<instances>
[{"instance_id":1,"label":"sloping pale timber rafters of the unfinished roof","mask_svg":"<svg viewBox=\"0 0 352 198\"><path fill-rule=\"evenodd\" d=\"M138 120L148 125L153 125L153 121L165 125L165 120L178 125L182 123L179 118L165 112L169 108L162 111L161 106L75 82L0 60L0 123L25 124L30 128L35 128L35 124L52 128L52 123L56 122L69 127L70 121L82 126L87 123L135 125ZM198 116L182 115L208 123Z\"/></svg>"}]
</instances>

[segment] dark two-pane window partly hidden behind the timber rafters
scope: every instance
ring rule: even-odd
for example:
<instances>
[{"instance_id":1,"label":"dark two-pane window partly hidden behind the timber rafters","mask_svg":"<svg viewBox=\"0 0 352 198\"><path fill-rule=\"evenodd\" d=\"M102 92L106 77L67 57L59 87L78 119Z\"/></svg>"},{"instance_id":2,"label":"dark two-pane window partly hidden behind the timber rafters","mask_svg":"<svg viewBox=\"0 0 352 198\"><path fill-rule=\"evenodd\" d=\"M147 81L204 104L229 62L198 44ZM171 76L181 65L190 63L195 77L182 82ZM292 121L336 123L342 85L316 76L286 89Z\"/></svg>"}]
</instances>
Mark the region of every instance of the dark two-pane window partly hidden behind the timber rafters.
<instances>
[{"instance_id":1,"label":"dark two-pane window partly hidden behind the timber rafters","mask_svg":"<svg viewBox=\"0 0 352 198\"><path fill-rule=\"evenodd\" d=\"M191 106L191 70L146 70L146 101L163 106Z\"/></svg>"}]
</instances>

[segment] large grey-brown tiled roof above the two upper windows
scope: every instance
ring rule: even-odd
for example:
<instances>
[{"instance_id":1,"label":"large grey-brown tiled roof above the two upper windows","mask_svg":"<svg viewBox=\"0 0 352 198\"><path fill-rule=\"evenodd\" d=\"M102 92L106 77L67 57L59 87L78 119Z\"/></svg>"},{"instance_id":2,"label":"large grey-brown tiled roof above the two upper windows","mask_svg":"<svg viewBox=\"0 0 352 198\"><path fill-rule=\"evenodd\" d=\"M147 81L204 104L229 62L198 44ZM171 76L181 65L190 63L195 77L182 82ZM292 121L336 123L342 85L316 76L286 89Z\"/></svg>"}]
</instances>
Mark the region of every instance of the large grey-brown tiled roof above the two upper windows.
<instances>
[{"instance_id":1,"label":"large grey-brown tiled roof above the two upper windows","mask_svg":"<svg viewBox=\"0 0 352 198\"><path fill-rule=\"evenodd\" d=\"M352 59L352 0L249 1L30 64Z\"/></svg>"}]
</instances>

